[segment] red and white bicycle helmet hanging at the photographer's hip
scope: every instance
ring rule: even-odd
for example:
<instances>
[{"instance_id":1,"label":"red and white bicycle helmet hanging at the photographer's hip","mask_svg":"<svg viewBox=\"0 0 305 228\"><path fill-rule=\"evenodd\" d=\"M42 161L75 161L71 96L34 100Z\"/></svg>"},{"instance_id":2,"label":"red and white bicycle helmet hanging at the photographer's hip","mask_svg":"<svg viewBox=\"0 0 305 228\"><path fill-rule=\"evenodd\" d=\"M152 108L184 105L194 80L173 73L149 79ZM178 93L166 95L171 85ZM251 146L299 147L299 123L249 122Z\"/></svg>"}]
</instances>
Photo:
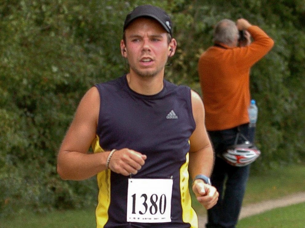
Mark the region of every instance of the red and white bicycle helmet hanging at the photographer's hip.
<instances>
[{"instance_id":1,"label":"red and white bicycle helmet hanging at the photographer's hip","mask_svg":"<svg viewBox=\"0 0 305 228\"><path fill-rule=\"evenodd\" d=\"M243 144L234 145L228 148L222 157L226 162L233 166L246 166L251 164L260 155L259 149L252 145L249 141L245 141Z\"/></svg>"}]
</instances>

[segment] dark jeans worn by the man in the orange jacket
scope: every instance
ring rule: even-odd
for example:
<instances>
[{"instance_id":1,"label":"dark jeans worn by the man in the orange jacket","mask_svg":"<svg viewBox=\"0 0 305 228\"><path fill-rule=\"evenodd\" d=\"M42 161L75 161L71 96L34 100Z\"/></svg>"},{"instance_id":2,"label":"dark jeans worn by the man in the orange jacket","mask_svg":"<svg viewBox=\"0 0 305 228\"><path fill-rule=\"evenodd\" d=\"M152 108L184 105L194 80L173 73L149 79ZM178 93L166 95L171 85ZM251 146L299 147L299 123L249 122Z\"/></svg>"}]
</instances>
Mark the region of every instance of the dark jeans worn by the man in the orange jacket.
<instances>
[{"instance_id":1,"label":"dark jeans worn by the man in the orange jacket","mask_svg":"<svg viewBox=\"0 0 305 228\"><path fill-rule=\"evenodd\" d=\"M255 128L249 128L248 124L240 125L238 128L208 132L216 154L223 152L228 145L234 144L238 129L250 142L254 141ZM219 192L219 199L217 204L208 210L207 228L236 226L249 171L250 165L235 167L216 156L211 182Z\"/></svg>"}]
</instances>

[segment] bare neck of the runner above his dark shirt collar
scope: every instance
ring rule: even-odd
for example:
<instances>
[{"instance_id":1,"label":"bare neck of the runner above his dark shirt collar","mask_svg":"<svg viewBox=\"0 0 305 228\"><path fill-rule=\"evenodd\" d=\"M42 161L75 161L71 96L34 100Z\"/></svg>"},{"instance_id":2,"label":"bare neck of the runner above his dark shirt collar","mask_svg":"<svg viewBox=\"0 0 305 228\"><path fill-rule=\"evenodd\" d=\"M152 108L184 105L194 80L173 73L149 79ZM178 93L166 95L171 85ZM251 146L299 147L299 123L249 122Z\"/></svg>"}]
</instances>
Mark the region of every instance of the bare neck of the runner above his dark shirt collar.
<instances>
[{"instance_id":1,"label":"bare neck of the runner above his dark shirt collar","mask_svg":"<svg viewBox=\"0 0 305 228\"><path fill-rule=\"evenodd\" d=\"M128 73L126 79L129 88L142 95L155 95L163 89L164 76L142 77L133 73Z\"/></svg>"}]
</instances>

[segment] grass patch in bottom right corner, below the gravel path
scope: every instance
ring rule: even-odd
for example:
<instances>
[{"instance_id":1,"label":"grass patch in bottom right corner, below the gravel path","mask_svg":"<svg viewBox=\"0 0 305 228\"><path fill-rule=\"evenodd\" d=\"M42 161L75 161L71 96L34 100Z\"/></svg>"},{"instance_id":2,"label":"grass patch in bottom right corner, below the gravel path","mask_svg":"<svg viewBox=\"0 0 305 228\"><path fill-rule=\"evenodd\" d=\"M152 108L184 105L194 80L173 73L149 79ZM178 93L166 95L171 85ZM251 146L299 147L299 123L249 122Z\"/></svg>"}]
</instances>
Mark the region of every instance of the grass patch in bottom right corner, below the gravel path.
<instances>
[{"instance_id":1,"label":"grass patch in bottom right corner, below the gravel path","mask_svg":"<svg viewBox=\"0 0 305 228\"><path fill-rule=\"evenodd\" d=\"M276 208L241 219L237 228L304 228L304 211L305 203Z\"/></svg>"}]
</instances>

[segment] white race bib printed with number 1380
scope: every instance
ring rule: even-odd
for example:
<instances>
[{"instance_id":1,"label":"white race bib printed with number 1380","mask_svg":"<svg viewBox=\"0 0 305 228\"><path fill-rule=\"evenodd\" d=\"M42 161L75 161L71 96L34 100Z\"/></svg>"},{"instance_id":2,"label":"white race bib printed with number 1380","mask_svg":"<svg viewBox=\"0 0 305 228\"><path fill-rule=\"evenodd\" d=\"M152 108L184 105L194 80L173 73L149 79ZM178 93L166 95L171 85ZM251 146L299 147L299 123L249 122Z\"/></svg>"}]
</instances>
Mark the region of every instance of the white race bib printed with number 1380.
<instances>
[{"instance_id":1,"label":"white race bib printed with number 1380","mask_svg":"<svg viewBox=\"0 0 305 228\"><path fill-rule=\"evenodd\" d=\"M127 222L171 222L172 179L128 179Z\"/></svg>"}]
</instances>

